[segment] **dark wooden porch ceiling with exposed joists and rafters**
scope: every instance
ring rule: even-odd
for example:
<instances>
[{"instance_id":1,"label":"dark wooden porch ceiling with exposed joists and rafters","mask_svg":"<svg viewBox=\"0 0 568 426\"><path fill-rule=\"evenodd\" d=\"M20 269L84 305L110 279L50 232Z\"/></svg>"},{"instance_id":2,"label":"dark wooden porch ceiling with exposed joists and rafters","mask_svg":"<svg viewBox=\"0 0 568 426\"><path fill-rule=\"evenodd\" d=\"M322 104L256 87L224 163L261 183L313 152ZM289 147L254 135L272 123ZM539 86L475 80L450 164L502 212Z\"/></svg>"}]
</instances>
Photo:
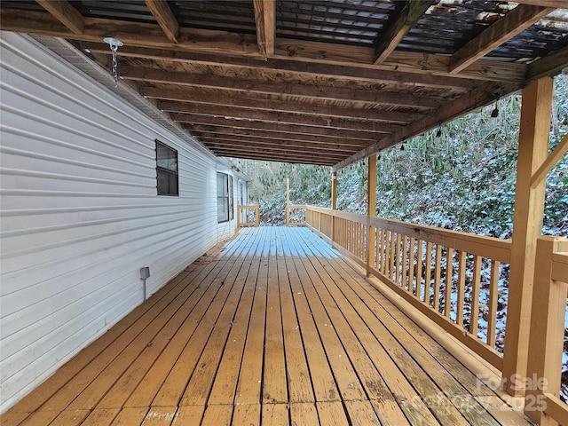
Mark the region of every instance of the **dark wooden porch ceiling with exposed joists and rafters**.
<instances>
[{"instance_id":1,"label":"dark wooden porch ceiling with exposed joists and rafters","mask_svg":"<svg viewBox=\"0 0 568 426\"><path fill-rule=\"evenodd\" d=\"M219 156L341 168L568 67L568 1L3 0Z\"/></svg>"}]
</instances>

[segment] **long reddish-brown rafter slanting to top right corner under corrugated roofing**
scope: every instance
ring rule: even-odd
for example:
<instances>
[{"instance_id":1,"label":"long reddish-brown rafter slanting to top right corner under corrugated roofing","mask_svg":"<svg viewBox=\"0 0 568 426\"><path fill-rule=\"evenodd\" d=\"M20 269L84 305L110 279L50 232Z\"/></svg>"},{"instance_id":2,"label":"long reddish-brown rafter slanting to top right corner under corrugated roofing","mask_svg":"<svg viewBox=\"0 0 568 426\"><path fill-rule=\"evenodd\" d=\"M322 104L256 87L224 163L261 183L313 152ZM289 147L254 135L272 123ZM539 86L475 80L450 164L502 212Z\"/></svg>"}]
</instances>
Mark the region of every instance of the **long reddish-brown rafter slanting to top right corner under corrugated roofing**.
<instances>
[{"instance_id":1,"label":"long reddish-brown rafter slanting to top right corner under corrugated roofing","mask_svg":"<svg viewBox=\"0 0 568 426\"><path fill-rule=\"evenodd\" d=\"M531 27L536 21L554 10L551 7L519 4L452 55L449 67L450 74L461 72L477 59L484 57L502 43L525 31L526 28Z\"/></svg>"}]
</instances>

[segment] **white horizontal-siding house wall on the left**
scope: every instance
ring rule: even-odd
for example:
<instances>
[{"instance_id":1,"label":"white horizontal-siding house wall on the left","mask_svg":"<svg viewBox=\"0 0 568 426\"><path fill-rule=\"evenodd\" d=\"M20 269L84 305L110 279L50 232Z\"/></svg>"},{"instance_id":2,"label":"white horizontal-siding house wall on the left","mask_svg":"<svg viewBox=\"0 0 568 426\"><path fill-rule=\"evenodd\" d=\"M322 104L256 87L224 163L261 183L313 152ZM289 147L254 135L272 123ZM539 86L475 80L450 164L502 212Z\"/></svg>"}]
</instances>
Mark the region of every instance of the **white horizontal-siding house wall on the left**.
<instances>
[{"instance_id":1,"label":"white horizontal-siding house wall on the left","mask_svg":"<svg viewBox=\"0 0 568 426\"><path fill-rule=\"evenodd\" d=\"M2 413L143 303L140 268L150 295L235 221L217 224L229 163L41 44L0 43ZM177 150L179 196L156 194L155 139Z\"/></svg>"}]
</instances>

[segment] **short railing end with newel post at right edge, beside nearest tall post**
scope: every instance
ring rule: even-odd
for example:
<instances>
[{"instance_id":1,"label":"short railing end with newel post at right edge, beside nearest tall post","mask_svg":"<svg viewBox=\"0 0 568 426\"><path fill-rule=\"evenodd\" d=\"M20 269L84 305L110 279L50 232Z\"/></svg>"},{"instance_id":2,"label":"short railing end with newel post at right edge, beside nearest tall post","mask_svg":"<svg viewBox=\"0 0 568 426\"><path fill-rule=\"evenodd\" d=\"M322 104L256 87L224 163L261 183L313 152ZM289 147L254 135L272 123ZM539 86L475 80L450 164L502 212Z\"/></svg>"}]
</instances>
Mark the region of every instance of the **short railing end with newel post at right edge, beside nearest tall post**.
<instances>
[{"instance_id":1,"label":"short railing end with newel post at right edge, beside nearest tall post","mask_svg":"<svg viewBox=\"0 0 568 426\"><path fill-rule=\"evenodd\" d=\"M568 406L559 398L568 291L568 239L541 237L536 256L525 414L541 426L568 424Z\"/></svg>"}]
</instances>

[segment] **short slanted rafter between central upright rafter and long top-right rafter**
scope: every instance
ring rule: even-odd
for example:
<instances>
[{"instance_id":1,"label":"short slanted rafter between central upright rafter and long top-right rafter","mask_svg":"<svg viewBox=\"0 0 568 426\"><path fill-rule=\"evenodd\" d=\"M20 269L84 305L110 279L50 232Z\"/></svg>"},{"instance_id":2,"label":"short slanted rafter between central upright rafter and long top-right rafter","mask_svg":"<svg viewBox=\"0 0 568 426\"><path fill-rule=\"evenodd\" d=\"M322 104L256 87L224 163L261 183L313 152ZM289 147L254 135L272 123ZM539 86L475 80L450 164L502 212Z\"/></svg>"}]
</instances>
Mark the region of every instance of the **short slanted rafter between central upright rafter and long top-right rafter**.
<instances>
[{"instance_id":1,"label":"short slanted rafter between central upright rafter and long top-right rafter","mask_svg":"<svg viewBox=\"0 0 568 426\"><path fill-rule=\"evenodd\" d=\"M406 2L404 9L398 15L398 19L380 36L375 48L375 65L380 65L384 59L387 59L433 3L432 1L422 0Z\"/></svg>"}]
</instances>

